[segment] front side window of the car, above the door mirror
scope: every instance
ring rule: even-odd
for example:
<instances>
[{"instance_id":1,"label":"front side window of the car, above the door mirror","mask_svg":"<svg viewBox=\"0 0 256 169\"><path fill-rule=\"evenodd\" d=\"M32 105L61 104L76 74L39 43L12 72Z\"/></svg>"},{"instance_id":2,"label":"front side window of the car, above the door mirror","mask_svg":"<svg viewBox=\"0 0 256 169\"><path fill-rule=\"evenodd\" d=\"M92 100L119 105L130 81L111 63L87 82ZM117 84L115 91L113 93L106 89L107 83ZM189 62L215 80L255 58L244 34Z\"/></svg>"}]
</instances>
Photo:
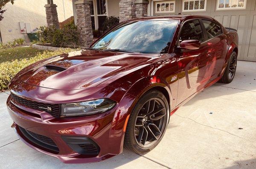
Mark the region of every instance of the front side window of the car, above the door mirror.
<instances>
[{"instance_id":1,"label":"front side window of the car, above the door mirror","mask_svg":"<svg viewBox=\"0 0 256 169\"><path fill-rule=\"evenodd\" d=\"M183 40L200 40L204 42L204 34L199 20L187 21L181 29L180 42Z\"/></svg>"}]
</instances>

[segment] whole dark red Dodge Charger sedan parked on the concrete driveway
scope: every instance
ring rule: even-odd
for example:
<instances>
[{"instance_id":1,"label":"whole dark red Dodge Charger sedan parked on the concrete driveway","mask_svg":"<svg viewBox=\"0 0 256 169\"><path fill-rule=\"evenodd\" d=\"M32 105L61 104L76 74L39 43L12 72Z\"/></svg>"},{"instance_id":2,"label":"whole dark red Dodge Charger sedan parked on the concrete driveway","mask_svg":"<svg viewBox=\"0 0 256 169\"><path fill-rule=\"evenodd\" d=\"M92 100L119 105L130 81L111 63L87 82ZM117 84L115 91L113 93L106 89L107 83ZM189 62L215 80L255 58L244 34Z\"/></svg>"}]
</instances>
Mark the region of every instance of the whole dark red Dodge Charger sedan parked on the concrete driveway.
<instances>
[{"instance_id":1,"label":"whole dark red Dodge Charger sedan parked on the concrete driveway","mask_svg":"<svg viewBox=\"0 0 256 169\"><path fill-rule=\"evenodd\" d=\"M17 135L64 163L144 154L163 138L170 116L236 72L238 35L207 16L128 20L88 49L20 71L7 100Z\"/></svg>"}]
</instances>

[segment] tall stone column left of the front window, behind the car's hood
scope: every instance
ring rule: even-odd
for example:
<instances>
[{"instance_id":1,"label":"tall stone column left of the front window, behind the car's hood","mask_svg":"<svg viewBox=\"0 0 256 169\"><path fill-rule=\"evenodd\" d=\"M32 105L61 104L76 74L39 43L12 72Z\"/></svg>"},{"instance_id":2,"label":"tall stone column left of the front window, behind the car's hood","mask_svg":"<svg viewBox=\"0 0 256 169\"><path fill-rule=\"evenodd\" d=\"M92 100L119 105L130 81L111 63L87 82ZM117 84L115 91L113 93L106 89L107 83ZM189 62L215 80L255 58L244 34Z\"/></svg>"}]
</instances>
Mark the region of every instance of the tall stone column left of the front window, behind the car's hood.
<instances>
[{"instance_id":1,"label":"tall stone column left of the front window, behind the car's hood","mask_svg":"<svg viewBox=\"0 0 256 169\"><path fill-rule=\"evenodd\" d=\"M77 27L79 32L79 45L89 47L93 42L93 29L90 17L90 1L76 0Z\"/></svg>"}]
</instances>

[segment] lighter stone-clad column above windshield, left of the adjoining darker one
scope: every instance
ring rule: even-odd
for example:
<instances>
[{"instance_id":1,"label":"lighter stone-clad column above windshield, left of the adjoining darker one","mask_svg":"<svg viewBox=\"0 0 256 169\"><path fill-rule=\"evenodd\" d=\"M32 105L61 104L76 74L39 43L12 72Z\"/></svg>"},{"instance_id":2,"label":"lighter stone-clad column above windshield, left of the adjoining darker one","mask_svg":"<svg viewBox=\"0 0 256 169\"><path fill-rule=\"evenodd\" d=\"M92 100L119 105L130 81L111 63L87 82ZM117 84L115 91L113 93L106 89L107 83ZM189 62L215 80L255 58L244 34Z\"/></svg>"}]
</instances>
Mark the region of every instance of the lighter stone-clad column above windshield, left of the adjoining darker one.
<instances>
[{"instance_id":1,"label":"lighter stone-clad column above windshield, left of the adjoining darker one","mask_svg":"<svg viewBox=\"0 0 256 169\"><path fill-rule=\"evenodd\" d=\"M125 20L134 19L135 15L135 0L120 0L119 1L119 20L120 22Z\"/></svg>"}]
</instances>

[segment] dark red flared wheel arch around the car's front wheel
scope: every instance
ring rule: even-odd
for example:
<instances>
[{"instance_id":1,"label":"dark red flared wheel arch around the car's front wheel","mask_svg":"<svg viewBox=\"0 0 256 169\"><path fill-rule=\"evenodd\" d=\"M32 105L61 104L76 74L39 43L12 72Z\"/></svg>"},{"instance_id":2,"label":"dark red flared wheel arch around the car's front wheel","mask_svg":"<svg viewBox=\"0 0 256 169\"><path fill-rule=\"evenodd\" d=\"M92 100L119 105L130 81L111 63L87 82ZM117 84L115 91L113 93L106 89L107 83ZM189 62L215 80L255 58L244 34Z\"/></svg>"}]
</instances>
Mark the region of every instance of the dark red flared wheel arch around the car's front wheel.
<instances>
[{"instance_id":1,"label":"dark red flared wheel arch around the car's front wheel","mask_svg":"<svg viewBox=\"0 0 256 169\"><path fill-rule=\"evenodd\" d=\"M168 83L160 77L148 76L134 83L119 102L119 106L116 110L111 124L109 143L110 146L115 149L115 154L119 154L122 152L126 125L128 123L128 119L130 117L132 109L134 108L140 97L146 91L154 87L160 87L165 89L168 92L169 100L173 100L172 92ZM170 105L169 109L171 109Z\"/></svg>"}]
</instances>

